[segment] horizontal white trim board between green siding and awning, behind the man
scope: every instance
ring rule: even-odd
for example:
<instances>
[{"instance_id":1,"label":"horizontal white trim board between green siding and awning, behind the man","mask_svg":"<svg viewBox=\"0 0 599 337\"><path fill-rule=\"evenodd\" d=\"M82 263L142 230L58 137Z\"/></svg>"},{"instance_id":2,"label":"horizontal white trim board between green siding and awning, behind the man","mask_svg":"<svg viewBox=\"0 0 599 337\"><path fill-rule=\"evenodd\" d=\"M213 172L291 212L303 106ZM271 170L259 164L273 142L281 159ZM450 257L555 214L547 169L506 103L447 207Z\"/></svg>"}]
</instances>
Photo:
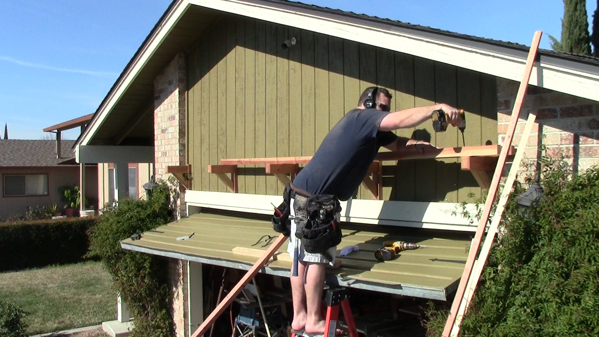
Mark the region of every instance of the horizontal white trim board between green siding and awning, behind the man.
<instances>
[{"instance_id":1,"label":"horizontal white trim board between green siding and awning, behind the man","mask_svg":"<svg viewBox=\"0 0 599 337\"><path fill-rule=\"evenodd\" d=\"M271 203L279 206L279 195L259 195L229 192L185 191L187 206L232 210L270 215ZM416 201L348 200L341 201L341 221L362 224L391 225L443 230L476 231L477 221L468 224L460 215L452 215L456 203ZM468 205L474 209L474 205ZM471 212L474 216L474 212Z\"/></svg>"}]
</instances>

